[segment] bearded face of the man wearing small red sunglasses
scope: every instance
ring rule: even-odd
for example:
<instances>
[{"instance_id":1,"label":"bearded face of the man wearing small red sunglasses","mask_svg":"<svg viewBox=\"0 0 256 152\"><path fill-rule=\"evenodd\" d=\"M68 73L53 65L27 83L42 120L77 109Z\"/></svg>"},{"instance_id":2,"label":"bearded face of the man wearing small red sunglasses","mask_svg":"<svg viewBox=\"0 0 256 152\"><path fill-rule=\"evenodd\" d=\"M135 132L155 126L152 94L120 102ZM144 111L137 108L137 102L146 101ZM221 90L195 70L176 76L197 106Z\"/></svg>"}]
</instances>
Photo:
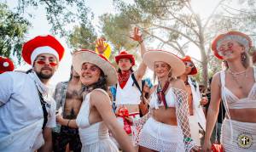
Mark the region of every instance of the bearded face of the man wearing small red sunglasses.
<instances>
[{"instance_id":1,"label":"bearded face of the man wearing small red sunglasses","mask_svg":"<svg viewBox=\"0 0 256 152\"><path fill-rule=\"evenodd\" d=\"M58 61L53 54L41 53L33 63L33 70L39 79L49 79L57 70Z\"/></svg>"}]
</instances>

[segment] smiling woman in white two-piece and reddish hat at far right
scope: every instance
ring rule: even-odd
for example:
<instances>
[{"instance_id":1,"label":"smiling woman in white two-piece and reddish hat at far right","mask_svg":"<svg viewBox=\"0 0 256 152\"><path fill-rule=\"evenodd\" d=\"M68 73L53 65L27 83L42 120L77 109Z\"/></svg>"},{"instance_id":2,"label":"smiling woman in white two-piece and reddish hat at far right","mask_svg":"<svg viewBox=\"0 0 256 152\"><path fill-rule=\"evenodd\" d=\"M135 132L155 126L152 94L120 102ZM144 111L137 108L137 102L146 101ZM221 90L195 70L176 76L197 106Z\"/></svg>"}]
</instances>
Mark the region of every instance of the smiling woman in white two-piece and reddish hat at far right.
<instances>
[{"instance_id":1,"label":"smiling woman in white two-piece and reddish hat at far right","mask_svg":"<svg viewBox=\"0 0 256 152\"><path fill-rule=\"evenodd\" d=\"M224 59L226 69L212 78L203 151L211 150L210 137L221 99L226 110L221 132L224 151L255 151L256 69L248 56L253 54L252 40L239 31L230 31L215 38L212 51Z\"/></svg>"}]
</instances>

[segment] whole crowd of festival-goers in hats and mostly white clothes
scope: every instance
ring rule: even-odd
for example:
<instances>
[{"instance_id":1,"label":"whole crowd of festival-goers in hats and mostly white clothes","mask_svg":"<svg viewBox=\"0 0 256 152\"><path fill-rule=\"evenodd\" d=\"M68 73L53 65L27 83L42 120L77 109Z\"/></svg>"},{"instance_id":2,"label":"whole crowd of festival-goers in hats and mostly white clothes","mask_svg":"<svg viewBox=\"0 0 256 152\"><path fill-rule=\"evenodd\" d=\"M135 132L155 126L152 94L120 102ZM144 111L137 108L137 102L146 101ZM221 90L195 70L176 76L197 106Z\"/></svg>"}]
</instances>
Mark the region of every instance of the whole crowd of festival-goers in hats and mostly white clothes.
<instances>
[{"instance_id":1,"label":"whole crowd of festival-goers in hats and mostly white clothes","mask_svg":"<svg viewBox=\"0 0 256 152\"><path fill-rule=\"evenodd\" d=\"M23 45L22 57L32 65L26 72L11 71L14 65L2 58L0 151L207 152L221 102L226 110L220 139L224 151L256 150L250 37L230 31L212 42L226 68L213 76L210 100L201 97L189 56L147 50L137 27L131 39L139 43L143 59L137 70L133 54L125 50L114 58L116 70L99 39L97 53L73 52L70 79L59 82L53 95L48 82L65 51L55 37L38 36ZM143 80L147 67L156 85Z\"/></svg>"}]
</instances>

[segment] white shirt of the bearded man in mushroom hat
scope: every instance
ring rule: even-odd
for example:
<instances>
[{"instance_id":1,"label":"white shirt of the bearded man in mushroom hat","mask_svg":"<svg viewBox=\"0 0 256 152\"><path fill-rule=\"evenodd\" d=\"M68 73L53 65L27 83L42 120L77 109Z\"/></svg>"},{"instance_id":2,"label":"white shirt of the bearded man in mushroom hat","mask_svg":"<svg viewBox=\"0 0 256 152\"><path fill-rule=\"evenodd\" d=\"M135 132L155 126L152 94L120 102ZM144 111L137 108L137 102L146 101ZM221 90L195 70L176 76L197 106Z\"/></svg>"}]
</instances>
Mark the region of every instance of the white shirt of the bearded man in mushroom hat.
<instances>
[{"instance_id":1,"label":"white shirt of the bearded man in mushroom hat","mask_svg":"<svg viewBox=\"0 0 256 152\"><path fill-rule=\"evenodd\" d=\"M1 143L1 138L7 138L15 134L15 132L31 127L32 124L36 124L38 121L40 123L36 125L37 128L34 127L30 132L26 132L30 138L22 138L20 136L18 144L14 142L15 147L11 146L11 142L8 146L13 147L12 149L15 150L33 150L38 137L42 139L44 113L40 104L38 90L43 94L44 100L47 102L48 121L46 127L55 127L55 100L50 95L47 95L47 87L38 79L36 74L5 72L0 75L0 149L1 144L3 144ZM3 150L6 151L4 148Z\"/></svg>"}]
</instances>

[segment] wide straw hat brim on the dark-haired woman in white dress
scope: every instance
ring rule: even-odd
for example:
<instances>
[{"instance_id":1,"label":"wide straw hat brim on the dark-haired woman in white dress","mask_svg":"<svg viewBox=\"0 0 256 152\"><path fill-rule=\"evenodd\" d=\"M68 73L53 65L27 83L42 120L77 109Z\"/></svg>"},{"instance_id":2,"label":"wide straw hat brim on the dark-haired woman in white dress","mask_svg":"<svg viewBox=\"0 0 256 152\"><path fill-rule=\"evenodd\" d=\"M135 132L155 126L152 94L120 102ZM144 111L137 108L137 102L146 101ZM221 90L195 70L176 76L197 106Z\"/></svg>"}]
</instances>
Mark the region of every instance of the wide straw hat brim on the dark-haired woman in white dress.
<instances>
[{"instance_id":1,"label":"wide straw hat brim on the dark-haired woman in white dress","mask_svg":"<svg viewBox=\"0 0 256 152\"><path fill-rule=\"evenodd\" d=\"M117 83L117 73L113 65L108 60L102 59L98 54L90 50L80 51L73 54L73 69L76 70L81 76L81 69L84 63L90 63L98 66L107 76L107 85L111 86Z\"/></svg>"}]
</instances>

